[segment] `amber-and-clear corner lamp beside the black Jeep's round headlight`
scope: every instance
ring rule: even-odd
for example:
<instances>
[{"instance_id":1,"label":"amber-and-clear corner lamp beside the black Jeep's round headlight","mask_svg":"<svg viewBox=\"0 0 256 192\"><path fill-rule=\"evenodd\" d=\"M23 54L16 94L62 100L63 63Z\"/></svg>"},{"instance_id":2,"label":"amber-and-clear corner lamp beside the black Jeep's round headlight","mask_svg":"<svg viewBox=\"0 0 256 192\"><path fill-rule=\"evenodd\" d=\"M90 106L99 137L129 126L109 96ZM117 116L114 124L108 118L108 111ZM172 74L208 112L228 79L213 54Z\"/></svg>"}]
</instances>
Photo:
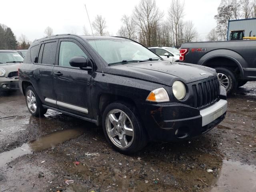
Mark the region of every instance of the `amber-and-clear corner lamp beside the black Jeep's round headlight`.
<instances>
[{"instance_id":1,"label":"amber-and-clear corner lamp beside the black Jeep's round headlight","mask_svg":"<svg viewBox=\"0 0 256 192\"><path fill-rule=\"evenodd\" d=\"M148 97L146 98L147 101L154 101L154 102L167 102L170 101L167 91L161 87L155 90L152 90Z\"/></svg>"}]
</instances>

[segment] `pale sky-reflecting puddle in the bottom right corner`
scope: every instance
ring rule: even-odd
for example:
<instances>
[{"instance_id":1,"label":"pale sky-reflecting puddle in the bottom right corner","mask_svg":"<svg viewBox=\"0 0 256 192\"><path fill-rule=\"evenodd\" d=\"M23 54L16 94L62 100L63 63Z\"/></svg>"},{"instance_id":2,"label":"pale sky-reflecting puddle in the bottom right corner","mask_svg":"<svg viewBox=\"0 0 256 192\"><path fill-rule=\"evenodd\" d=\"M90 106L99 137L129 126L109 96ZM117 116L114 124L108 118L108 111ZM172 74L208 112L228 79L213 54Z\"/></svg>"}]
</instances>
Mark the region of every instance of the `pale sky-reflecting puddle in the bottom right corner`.
<instances>
[{"instance_id":1,"label":"pale sky-reflecting puddle in the bottom right corner","mask_svg":"<svg viewBox=\"0 0 256 192\"><path fill-rule=\"evenodd\" d=\"M210 192L252 191L256 191L256 166L224 160L216 187Z\"/></svg>"}]
</instances>

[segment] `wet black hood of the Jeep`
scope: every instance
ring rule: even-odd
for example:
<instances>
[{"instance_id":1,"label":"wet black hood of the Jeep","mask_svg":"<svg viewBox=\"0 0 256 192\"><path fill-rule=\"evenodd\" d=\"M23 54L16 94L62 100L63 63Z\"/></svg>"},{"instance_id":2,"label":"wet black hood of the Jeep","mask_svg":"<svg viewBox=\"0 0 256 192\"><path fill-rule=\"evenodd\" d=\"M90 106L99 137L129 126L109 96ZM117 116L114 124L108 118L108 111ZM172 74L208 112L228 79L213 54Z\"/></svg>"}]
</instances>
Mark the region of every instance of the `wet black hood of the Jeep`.
<instances>
[{"instance_id":1,"label":"wet black hood of the Jeep","mask_svg":"<svg viewBox=\"0 0 256 192\"><path fill-rule=\"evenodd\" d=\"M109 67L108 73L172 86L175 80L185 84L216 76L215 69L188 63L151 61Z\"/></svg>"}]
</instances>

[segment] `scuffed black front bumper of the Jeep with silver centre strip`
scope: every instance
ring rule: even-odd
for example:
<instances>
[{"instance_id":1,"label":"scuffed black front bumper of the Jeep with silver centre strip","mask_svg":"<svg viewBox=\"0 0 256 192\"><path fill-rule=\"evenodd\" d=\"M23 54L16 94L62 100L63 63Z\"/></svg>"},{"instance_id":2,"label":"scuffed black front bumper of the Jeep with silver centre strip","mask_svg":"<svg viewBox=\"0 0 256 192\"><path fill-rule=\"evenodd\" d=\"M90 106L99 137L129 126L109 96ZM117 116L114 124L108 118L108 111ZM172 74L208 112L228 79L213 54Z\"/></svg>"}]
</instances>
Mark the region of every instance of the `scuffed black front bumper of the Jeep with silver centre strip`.
<instances>
[{"instance_id":1,"label":"scuffed black front bumper of the Jeep with silver centre strip","mask_svg":"<svg viewBox=\"0 0 256 192\"><path fill-rule=\"evenodd\" d=\"M140 104L138 107L150 140L176 141L199 136L226 116L225 96L202 110L180 103Z\"/></svg>"}]
</instances>

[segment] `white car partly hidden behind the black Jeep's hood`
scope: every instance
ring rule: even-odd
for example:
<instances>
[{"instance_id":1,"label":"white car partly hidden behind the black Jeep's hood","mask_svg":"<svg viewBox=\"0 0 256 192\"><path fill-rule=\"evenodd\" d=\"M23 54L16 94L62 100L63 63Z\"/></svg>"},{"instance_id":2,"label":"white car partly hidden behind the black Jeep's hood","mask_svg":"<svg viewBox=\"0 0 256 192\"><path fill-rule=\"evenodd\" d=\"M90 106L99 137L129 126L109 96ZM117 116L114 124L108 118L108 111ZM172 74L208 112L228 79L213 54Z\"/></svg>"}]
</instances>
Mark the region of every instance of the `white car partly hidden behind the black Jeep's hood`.
<instances>
[{"instance_id":1,"label":"white car partly hidden behind the black Jeep's hood","mask_svg":"<svg viewBox=\"0 0 256 192\"><path fill-rule=\"evenodd\" d=\"M150 50L161 56L164 60L178 62L180 61L180 51L172 47L148 47Z\"/></svg>"}]
</instances>

